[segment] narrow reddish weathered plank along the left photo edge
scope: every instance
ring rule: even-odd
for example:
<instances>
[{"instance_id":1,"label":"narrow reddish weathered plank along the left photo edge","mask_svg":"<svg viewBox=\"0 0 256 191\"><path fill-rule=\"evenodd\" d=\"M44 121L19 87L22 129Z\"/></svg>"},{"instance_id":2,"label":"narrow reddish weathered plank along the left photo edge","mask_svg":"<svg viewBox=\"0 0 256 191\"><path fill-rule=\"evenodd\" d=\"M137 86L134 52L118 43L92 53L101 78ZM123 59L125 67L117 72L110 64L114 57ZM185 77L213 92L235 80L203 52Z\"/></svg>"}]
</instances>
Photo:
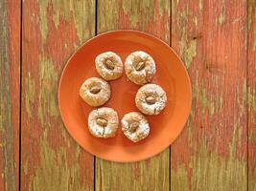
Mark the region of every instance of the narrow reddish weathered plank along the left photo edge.
<instances>
[{"instance_id":1,"label":"narrow reddish weathered plank along the left photo edge","mask_svg":"<svg viewBox=\"0 0 256 191\"><path fill-rule=\"evenodd\" d=\"M0 1L0 190L17 190L20 1Z\"/></svg>"}]
</instances>

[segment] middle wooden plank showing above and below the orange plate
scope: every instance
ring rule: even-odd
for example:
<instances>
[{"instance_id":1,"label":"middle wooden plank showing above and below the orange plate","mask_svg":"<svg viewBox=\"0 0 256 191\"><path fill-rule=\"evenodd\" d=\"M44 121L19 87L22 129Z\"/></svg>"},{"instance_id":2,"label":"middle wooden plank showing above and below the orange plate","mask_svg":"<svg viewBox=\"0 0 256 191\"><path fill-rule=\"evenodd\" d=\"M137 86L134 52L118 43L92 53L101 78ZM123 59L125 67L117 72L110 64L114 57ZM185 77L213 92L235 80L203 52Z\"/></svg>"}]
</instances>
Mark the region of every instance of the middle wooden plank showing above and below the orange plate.
<instances>
[{"instance_id":1,"label":"middle wooden plank showing above and below the orange plate","mask_svg":"<svg viewBox=\"0 0 256 191\"><path fill-rule=\"evenodd\" d=\"M169 42L170 2L98 1L98 32L134 29ZM135 163L96 159L96 190L169 190L170 151Z\"/></svg>"}]
</instances>

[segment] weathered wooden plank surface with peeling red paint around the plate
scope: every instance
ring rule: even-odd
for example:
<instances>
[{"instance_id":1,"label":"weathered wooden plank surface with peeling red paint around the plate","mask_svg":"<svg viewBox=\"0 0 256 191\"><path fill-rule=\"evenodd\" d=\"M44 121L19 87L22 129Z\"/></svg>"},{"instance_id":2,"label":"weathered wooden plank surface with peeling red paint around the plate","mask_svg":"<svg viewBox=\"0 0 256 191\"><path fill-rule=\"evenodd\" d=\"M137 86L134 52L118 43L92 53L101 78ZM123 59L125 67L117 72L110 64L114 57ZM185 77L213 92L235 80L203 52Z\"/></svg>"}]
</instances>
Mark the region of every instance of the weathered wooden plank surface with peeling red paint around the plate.
<instances>
[{"instance_id":1,"label":"weathered wooden plank surface with peeling red paint around the plate","mask_svg":"<svg viewBox=\"0 0 256 191\"><path fill-rule=\"evenodd\" d=\"M98 33L149 32L193 86L182 134L135 163L98 159L58 112L65 62ZM256 0L1 0L0 190L256 190Z\"/></svg>"}]
</instances>

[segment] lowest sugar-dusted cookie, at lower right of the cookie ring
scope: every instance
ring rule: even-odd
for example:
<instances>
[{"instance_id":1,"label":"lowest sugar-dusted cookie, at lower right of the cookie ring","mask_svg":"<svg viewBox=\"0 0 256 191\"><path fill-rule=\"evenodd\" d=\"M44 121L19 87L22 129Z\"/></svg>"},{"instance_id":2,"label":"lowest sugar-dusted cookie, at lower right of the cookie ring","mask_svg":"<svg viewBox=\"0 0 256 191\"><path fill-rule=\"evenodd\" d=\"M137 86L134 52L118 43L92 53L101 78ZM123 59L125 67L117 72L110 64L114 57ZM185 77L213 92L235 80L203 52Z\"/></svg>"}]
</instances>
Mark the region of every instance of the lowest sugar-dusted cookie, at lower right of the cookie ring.
<instances>
[{"instance_id":1,"label":"lowest sugar-dusted cookie, at lower right of the cookie ring","mask_svg":"<svg viewBox=\"0 0 256 191\"><path fill-rule=\"evenodd\" d=\"M147 118L139 112L126 114L121 123L125 136L133 142L147 138L150 133L150 125Z\"/></svg>"}]
</instances>

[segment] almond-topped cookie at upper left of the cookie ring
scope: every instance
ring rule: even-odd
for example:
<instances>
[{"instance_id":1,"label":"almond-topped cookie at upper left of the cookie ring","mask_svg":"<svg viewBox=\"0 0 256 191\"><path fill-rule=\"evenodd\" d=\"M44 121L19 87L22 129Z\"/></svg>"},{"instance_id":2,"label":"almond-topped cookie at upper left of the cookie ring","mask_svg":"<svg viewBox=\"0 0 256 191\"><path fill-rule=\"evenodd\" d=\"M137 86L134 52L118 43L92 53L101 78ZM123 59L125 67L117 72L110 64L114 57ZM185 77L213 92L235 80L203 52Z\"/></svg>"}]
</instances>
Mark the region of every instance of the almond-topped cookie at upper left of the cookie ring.
<instances>
[{"instance_id":1,"label":"almond-topped cookie at upper left of the cookie ring","mask_svg":"<svg viewBox=\"0 0 256 191\"><path fill-rule=\"evenodd\" d=\"M99 54L95 59L97 72L105 80L114 80L123 74L123 63L118 54L106 52Z\"/></svg>"}]
</instances>

